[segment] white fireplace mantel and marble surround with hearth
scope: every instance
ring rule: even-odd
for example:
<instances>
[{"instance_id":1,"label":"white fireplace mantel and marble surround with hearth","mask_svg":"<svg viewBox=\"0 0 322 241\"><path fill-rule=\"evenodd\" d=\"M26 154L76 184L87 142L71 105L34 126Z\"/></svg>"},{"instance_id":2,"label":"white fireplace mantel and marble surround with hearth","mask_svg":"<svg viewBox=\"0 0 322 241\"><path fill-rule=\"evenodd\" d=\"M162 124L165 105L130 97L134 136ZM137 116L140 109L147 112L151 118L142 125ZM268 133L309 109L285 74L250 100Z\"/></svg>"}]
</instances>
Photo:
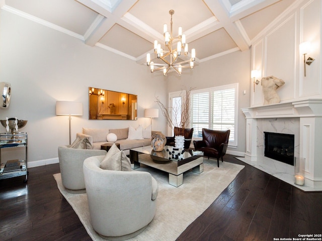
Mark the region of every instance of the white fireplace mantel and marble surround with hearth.
<instances>
[{"instance_id":1,"label":"white fireplace mantel and marble surround with hearth","mask_svg":"<svg viewBox=\"0 0 322 241\"><path fill-rule=\"evenodd\" d=\"M322 191L322 99L241 109L246 116L245 158L238 158L303 191ZM305 158L305 185L294 184L294 166L264 156L264 132L294 135L294 156Z\"/></svg>"}]
</instances>

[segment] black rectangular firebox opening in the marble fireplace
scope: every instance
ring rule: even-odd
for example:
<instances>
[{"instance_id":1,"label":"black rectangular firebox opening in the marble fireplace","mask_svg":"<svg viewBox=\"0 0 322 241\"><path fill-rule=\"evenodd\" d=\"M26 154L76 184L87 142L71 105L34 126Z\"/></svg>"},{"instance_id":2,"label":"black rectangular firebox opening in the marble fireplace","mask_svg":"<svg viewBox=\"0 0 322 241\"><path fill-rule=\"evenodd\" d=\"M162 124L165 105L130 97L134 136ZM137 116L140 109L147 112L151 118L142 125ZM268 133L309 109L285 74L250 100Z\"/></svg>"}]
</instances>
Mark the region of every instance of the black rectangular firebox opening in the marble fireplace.
<instances>
[{"instance_id":1,"label":"black rectangular firebox opening in the marble fireplace","mask_svg":"<svg viewBox=\"0 0 322 241\"><path fill-rule=\"evenodd\" d=\"M294 166L294 135L264 132L264 156Z\"/></svg>"}]
</instances>

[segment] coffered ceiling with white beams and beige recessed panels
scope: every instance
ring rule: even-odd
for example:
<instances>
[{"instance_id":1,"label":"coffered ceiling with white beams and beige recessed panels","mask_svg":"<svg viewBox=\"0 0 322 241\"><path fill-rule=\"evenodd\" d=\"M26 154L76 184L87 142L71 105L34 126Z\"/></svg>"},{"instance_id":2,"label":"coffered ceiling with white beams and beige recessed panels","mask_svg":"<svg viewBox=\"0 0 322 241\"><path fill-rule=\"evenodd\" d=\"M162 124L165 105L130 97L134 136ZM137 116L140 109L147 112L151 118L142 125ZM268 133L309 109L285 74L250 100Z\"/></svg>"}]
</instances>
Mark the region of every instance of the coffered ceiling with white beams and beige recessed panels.
<instances>
[{"instance_id":1,"label":"coffered ceiling with white beams and beige recessed panels","mask_svg":"<svg viewBox=\"0 0 322 241\"><path fill-rule=\"evenodd\" d=\"M3 11L20 15L123 55L139 64L163 43L163 25L181 26L197 63L244 51L294 0L0 0ZM151 55L153 56L153 55Z\"/></svg>"}]
</instances>

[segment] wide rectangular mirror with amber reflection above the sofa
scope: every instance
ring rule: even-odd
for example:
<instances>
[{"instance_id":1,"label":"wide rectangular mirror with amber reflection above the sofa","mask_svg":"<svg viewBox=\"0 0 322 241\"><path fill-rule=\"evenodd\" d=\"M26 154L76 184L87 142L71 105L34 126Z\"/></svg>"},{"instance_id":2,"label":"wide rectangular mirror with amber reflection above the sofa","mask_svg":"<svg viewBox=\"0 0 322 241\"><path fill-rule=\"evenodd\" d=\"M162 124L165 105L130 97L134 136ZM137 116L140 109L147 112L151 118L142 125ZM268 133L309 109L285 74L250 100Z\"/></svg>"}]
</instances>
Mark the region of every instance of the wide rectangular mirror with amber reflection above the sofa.
<instances>
[{"instance_id":1,"label":"wide rectangular mirror with amber reflection above the sofa","mask_svg":"<svg viewBox=\"0 0 322 241\"><path fill-rule=\"evenodd\" d=\"M89 119L137 119L137 95L89 87Z\"/></svg>"}]
</instances>

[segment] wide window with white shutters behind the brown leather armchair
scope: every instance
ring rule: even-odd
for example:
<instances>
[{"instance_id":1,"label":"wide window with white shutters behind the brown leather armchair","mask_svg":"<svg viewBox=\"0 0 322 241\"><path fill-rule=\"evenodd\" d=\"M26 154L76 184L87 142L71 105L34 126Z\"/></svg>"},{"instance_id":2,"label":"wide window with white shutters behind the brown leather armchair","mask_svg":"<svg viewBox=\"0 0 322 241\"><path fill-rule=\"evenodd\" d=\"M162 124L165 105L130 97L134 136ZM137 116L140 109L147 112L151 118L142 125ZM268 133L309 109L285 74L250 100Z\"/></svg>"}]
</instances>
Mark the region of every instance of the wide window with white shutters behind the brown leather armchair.
<instances>
[{"instance_id":1,"label":"wide window with white shutters behind the brown leather armchair","mask_svg":"<svg viewBox=\"0 0 322 241\"><path fill-rule=\"evenodd\" d=\"M202 128L230 130L229 146L237 146L238 84L191 91L193 137L202 138Z\"/></svg>"}]
</instances>

